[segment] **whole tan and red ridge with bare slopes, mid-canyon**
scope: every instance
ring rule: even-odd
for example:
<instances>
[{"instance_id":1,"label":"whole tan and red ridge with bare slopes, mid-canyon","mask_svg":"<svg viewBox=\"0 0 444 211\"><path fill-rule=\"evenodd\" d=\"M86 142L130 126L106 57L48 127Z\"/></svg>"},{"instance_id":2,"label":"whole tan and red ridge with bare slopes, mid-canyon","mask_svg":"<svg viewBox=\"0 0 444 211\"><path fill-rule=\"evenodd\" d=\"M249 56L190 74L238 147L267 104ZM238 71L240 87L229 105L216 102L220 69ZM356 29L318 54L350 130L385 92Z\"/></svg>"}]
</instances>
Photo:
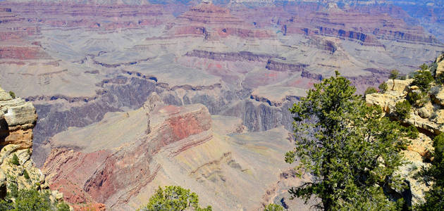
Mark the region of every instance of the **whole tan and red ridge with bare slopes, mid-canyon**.
<instances>
[{"instance_id":1,"label":"whole tan and red ridge with bare slopes, mid-canyon","mask_svg":"<svg viewBox=\"0 0 444 211\"><path fill-rule=\"evenodd\" d=\"M192 186L216 210L254 210L288 197L285 188L299 180L285 183L279 174L266 174L289 168L281 156L291 146L285 129L228 135L245 130L240 119L211 117L199 104L166 106L153 93L142 108L54 136L43 171L70 203L128 210L146 203L157 186L180 184ZM222 198L214 204L214 197Z\"/></svg>"}]
</instances>

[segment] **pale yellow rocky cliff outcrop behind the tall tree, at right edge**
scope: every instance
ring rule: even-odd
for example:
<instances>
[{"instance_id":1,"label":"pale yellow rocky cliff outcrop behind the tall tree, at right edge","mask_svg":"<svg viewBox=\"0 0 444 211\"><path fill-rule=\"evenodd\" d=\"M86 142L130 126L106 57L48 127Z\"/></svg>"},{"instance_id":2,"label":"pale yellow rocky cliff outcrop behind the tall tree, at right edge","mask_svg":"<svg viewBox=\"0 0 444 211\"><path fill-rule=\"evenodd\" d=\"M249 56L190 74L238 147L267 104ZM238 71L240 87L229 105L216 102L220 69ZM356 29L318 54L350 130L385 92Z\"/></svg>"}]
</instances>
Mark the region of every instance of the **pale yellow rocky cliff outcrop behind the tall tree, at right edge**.
<instances>
[{"instance_id":1,"label":"pale yellow rocky cliff outcrop behind the tall tree, at right edge","mask_svg":"<svg viewBox=\"0 0 444 211\"><path fill-rule=\"evenodd\" d=\"M403 151L408 163L402 166L399 172L402 177L407 178L412 204L424 201L424 194L431 187L431 184L426 184L415 177L415 174L431 165L434 150L432 139L444 132L444 103L441 103L444 99L444 89L443 84L439 82L442 76L440 74L444 72L443 58L444 55L439 56L428 70L413 72L413 75L424 72L433 75L432 81L428 82L428 89L416 85L420 77L389 79L386 82L386 91L366 95L367 104L381 106L392 120L399 121L405 126L416 127L419 131L417 139L411 139L407 150ZM406 106L404 109L407 114L400 115L402 113L400 105L405 105L406 101L412 106Z\"/></svg>"}]
</instances>

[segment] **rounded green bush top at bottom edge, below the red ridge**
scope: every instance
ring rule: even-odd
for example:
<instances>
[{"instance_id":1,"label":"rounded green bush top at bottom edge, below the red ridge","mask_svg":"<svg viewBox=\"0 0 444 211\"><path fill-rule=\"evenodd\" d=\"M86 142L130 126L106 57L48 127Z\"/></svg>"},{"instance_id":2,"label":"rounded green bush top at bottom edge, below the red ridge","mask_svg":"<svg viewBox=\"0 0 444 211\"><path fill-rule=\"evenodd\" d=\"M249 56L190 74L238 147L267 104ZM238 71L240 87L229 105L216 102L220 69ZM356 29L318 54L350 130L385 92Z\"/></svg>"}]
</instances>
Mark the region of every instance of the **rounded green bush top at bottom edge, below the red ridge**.
<instances>
[{"instance_id":1,"label":"rounded green bush top at bottom edge, below the red ridge","mask_svg":"<svg viewBox=\"0 0 444 211\"><path fill-rule=\"evenodd\" d=\"M188 210L211 211L211 206L199 207L199 197L196 193L190 193L189 189L180 186L159 187L148 205L139 210Z\"/></svg>"}]
</instances>

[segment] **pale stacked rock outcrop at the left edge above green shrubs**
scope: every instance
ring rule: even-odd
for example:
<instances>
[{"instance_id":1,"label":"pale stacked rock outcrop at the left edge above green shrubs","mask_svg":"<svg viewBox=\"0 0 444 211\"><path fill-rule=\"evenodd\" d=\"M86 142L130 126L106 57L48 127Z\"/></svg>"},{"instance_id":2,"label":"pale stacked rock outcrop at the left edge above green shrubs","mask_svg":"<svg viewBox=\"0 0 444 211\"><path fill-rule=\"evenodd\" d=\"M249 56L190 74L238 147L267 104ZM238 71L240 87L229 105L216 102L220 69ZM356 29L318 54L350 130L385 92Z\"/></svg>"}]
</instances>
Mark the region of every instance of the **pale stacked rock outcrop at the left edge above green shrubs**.
<instances>
[{"instance_id":1,"label":"pale stacked rock outcrop at the left edge above green shrubs","mask_svg":"<svg viewBox=\"0 0 444 211\"><path fill-rule=\"evenodd\" d=\"M32 128L37 114L32 103L22 98L12 98L0 88L0 197L4 198L11 184L18 190L37 188L49 189L42 171L35 167L31 159ZM18 165L11 162L13 155L18 157ZM29 178L25 178L24 172ZM52 201L63 200L63 194L51 191Z\"/></svg>"}]
</instances>

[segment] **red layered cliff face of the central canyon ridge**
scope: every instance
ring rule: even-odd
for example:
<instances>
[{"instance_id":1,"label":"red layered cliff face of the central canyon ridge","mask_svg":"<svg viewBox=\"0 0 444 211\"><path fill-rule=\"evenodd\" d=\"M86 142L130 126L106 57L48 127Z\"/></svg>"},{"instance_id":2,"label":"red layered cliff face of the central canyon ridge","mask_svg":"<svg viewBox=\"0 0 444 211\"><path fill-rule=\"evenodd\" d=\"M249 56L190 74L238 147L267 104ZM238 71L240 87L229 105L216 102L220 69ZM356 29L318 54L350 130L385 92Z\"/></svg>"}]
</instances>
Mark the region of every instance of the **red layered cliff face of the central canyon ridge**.
<instances>
[{"instance_id":1,"label":"red layered cliff face of the central canyon ridge","mask_svg":"<svg viewBox=\"0 0 444 211\"><path fill-rule=\"evenodd\" d=\"M161 113L167 115L164 122L149 128L149 134L131 146L114 153L53 149L43 167L51 188L64 193L70 203L98 202L112 206L128 202L130 196L156 177L159 166L150 161L161 148L187 139L171 152L173 156L211 138L208 109L194 106L197 108L193 110L161 108ZM188 140L190 136L193 138Z\"/></svg>"}]
</instances>

